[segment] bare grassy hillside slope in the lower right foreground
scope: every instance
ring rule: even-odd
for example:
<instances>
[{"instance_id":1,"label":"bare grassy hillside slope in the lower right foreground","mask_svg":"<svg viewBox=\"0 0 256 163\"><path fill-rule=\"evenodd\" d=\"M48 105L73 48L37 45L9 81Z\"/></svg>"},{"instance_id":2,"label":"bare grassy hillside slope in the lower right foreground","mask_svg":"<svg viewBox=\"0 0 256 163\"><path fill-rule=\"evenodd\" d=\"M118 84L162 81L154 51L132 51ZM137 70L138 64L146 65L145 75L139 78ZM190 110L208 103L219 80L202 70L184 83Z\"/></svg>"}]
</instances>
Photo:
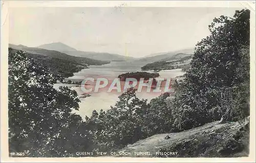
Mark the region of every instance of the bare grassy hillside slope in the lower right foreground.
<instances>
[{"instance_id":1,"label":"bare grassy hillside slope in the lower right foreground","mask_svg":"<svg viewBox=\"0 0 256 163\"><path fill-rule=\"evenodd\" d=\"M165 139L166 135L170 138ZM212 122L183 132L153 135L132 145L127 145L119 152L131 152L129 157L248 156L249 117L242 123L219 124L219 122ZM134 152L149 152L150 155L135 155ZM172 153L164 155L166 154L164 152L178 153L177 155L172 155ZM116 157L122 156L127 157L127 155L116 155Z\"/></svg>"}]
</instances>

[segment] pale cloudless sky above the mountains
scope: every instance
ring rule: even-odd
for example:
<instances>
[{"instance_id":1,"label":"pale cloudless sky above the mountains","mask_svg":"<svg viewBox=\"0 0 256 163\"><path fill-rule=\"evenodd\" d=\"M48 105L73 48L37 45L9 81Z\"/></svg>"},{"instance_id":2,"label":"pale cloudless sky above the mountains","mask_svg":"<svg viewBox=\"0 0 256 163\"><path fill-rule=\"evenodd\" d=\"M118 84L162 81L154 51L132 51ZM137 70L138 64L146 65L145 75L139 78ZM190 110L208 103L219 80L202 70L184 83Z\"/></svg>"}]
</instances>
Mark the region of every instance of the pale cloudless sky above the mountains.
<instances>
[{"instance_id":1,"label":"pale cloudless sky above the mountains","mask_svg":"<svg viewBox=\"0 0 256 163\"><path fill-rule=\"evenodd\" d=\"M208 25L241 8L41 7L9 10L9 43L62 42L79 51L131 57L194 48Z\"/></svg>"}]
</instances>

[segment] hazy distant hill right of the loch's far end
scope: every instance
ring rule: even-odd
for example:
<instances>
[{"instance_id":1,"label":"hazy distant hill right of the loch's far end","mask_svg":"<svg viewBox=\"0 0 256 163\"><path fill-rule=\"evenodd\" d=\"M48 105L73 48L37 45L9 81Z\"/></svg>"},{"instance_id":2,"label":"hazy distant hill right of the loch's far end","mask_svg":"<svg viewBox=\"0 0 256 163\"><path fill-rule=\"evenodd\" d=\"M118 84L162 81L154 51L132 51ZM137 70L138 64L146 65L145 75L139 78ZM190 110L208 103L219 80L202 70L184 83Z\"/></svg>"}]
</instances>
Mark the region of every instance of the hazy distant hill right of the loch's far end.
<instances>
[{"instance_id":1,"label":"hazy distant hill right of the loch's far end","mask_svg":"<svg viewBox=\"0 0 256 163\"><path fill-rule=\"evenodd\" d=\"M177 59L182 58L186 55L193 55L194 48L173 51L173 52L155 53L155 54L151 54L149 56L143 57L143 58L139 58L138 61L145 61L145 62L168 61L169 59L174 59L172 57L175 57L175 55L178 55L178 54L180 54L180 57L176 56ZM181 56L181 54L182 54L182 56Z\"/></svg>"}]
</instances>

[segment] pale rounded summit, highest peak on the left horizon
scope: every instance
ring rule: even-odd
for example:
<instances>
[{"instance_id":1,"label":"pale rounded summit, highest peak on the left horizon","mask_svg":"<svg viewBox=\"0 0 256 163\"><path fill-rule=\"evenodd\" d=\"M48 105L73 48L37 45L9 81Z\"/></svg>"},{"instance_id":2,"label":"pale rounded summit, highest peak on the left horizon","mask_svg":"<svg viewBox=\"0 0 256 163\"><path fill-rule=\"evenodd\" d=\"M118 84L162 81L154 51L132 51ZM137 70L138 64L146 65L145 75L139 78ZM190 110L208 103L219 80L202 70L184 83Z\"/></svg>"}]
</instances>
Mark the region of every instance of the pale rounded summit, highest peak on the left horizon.
<instances>
[{"instance_id":1,"label":"pale rounded summit, highest peak on the left horizon","mask_svg":"<svg viewBox=\"0 0 256 163\"><path fill-rule=\"evenodd\" d=\"M53 42L53 43L47 43L47 44L43 44L40 46L37 46L36 48L41 48L41 49L46 49L46 50L51 50L51 51L67 51L67 52L73 52L73 51L77 51L74 48L71 48L70 46L61 43L61 42Z\"/></svg>"}]
</instances>

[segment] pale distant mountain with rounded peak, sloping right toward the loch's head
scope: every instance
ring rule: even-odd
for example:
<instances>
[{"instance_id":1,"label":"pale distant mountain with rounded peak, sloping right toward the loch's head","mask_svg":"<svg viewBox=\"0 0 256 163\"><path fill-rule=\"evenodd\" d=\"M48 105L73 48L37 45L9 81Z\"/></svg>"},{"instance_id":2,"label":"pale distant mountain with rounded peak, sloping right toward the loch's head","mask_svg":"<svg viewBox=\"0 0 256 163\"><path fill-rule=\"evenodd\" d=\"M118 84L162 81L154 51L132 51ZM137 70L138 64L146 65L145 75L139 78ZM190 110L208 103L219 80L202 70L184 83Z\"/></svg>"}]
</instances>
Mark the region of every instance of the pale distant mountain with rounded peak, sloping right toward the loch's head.
<instances>
[{"instance_id":1,"label":"pale distant mountain with rounded peak, sloping right toward the loch's head","mask_svg":"<svg viewBox=\"0 0 256 163\"><path fill-rule=\"evenodd\" d=\"M70 46L63 44L61 42L43 44L43 45L37 46L37 48L59 51L59 52L62 52L62 53L65 53L65 54L68 54L71 56L86 57L86 58L96 59L96 60L101 60L101 61L130 61L130 60L134 60L133 57L126 57L126 56L122 56L122 55L118 55L118 54L77 51L76 49L71 48Z\"/></svg>"}]
</instances>

